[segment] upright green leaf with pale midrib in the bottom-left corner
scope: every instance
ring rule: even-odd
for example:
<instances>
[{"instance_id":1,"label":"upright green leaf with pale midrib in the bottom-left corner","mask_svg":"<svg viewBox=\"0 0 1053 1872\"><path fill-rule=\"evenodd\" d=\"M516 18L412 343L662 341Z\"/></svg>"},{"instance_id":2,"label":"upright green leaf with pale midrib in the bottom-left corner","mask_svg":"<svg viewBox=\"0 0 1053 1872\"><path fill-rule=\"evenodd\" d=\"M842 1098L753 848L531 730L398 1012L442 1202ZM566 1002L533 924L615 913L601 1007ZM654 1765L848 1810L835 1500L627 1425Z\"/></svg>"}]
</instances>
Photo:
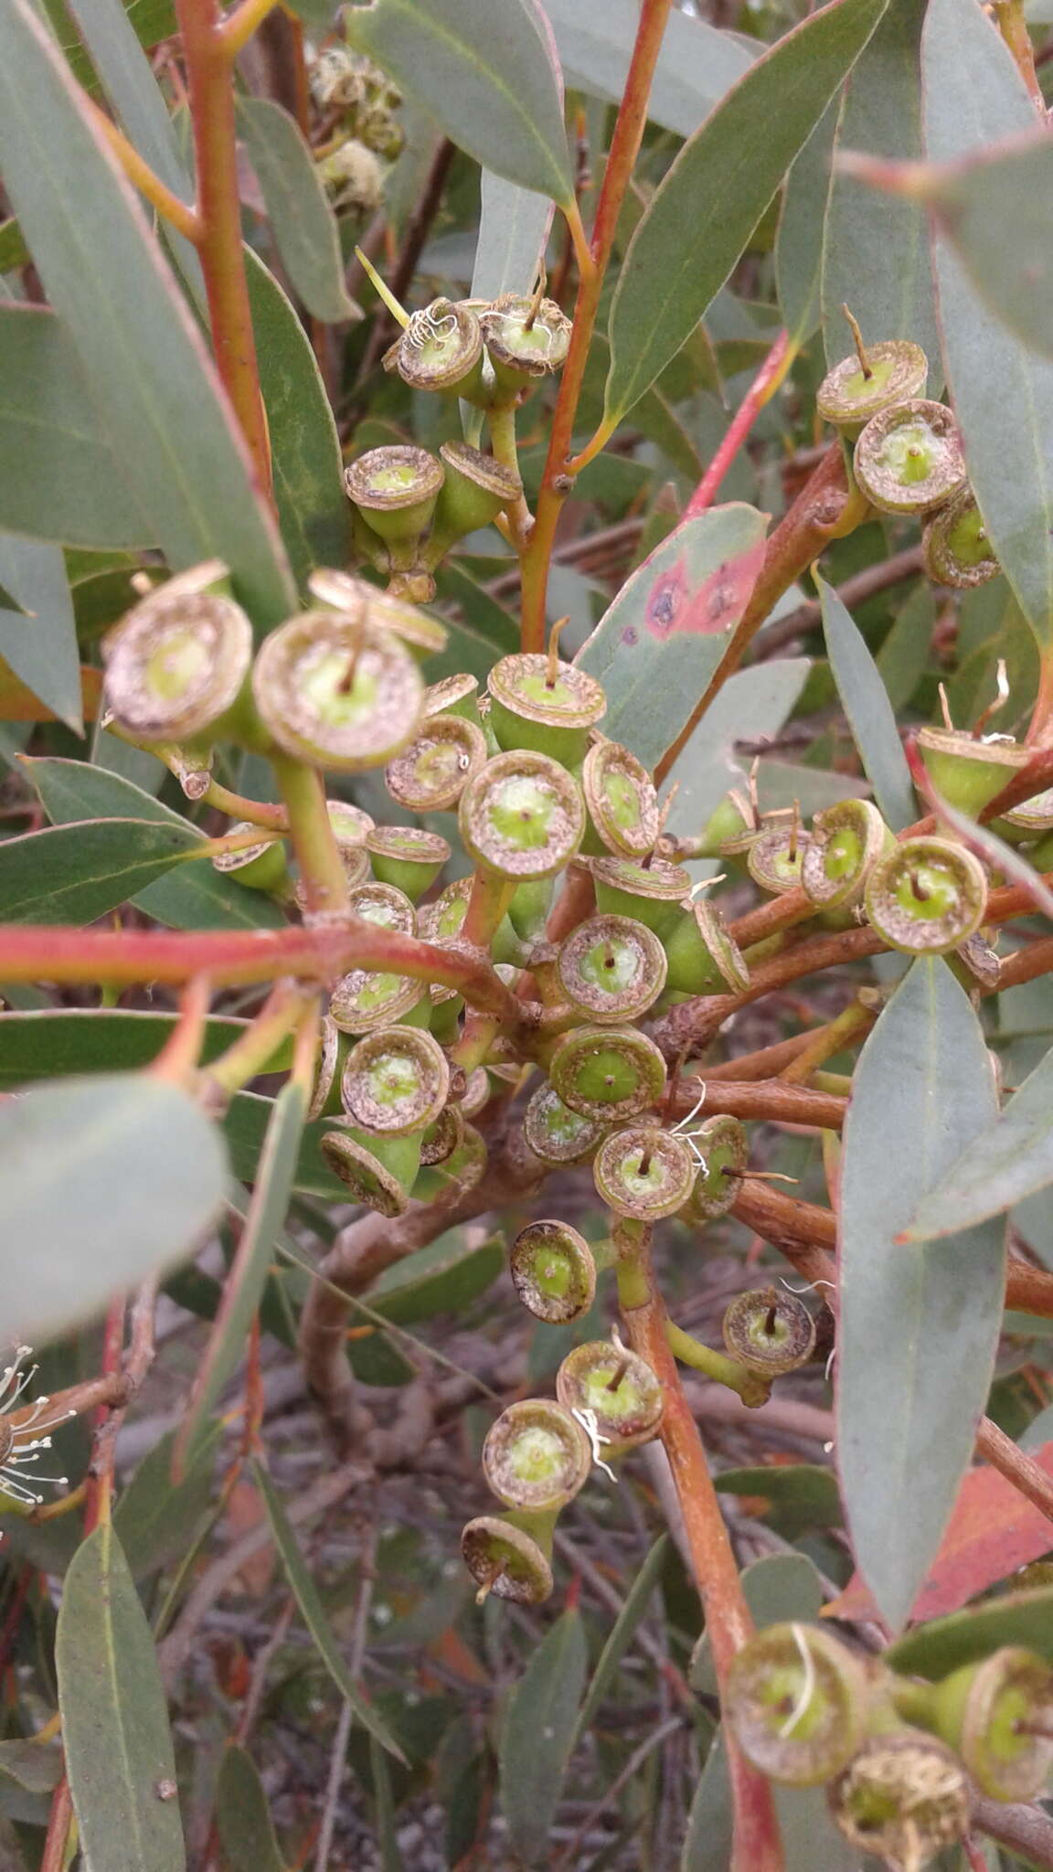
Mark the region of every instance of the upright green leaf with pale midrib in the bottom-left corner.
<instances>
[{"instance_id":1,"label":"upright green leaf with pale midrib in the bottom-left corner","mask_svg":"<svg viewBox=\"0 0 1053 1872\"><path fill-rule=\"evenodd\" d=\"M66 1773L92 1872L182 1872L176 1760L154 1636L114 1529L77 1548L54 1642Z\"/></svg>"}]
</instances>

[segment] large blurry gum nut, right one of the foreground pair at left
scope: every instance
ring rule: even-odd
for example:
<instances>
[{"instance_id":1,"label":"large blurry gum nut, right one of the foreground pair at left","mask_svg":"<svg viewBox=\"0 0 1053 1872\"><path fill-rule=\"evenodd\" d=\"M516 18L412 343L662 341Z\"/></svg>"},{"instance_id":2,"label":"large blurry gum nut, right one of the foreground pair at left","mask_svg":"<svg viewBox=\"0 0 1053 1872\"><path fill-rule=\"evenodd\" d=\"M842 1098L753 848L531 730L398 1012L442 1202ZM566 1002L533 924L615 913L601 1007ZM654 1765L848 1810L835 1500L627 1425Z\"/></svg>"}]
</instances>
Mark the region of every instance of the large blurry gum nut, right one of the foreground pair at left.
<instances>
[{"instance_id":1,"label":"large blurry gum nut, right one of the foreground pair at left","mask_svg":"<svg viewBox=\"0 0 1053 1872\"><path fill-rule=\"evenodd\" d=\"M363 610L311 610L279 625L259 650L253 693L287 754L343 773L392 760L423 708L416 661Z\"/></svg>"}]
</instances>

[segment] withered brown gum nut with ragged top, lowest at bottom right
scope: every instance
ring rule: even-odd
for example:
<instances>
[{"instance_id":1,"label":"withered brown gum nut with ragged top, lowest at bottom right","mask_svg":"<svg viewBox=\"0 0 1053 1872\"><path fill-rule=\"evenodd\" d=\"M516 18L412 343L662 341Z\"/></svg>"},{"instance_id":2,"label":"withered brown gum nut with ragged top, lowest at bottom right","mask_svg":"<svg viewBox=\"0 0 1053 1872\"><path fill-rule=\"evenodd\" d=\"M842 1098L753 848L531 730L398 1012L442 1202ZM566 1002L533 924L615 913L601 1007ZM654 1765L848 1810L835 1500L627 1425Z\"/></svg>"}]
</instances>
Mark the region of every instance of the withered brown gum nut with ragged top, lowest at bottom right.
<instances>
[{"instance_id":1,"label":"withered brown gum nut with ragged top, lowest at bottom right","mask_svg":"<svg viewBox=\"0 0 1053 1872\"><path fill-rule=\"evenodd\" d=\"M935 1735L909 1728L871 1735L830 1782L826 1805L851 1846L903 1872L965 1838L972 1818L961 1762Z\"/></svg>"}]
</instances>

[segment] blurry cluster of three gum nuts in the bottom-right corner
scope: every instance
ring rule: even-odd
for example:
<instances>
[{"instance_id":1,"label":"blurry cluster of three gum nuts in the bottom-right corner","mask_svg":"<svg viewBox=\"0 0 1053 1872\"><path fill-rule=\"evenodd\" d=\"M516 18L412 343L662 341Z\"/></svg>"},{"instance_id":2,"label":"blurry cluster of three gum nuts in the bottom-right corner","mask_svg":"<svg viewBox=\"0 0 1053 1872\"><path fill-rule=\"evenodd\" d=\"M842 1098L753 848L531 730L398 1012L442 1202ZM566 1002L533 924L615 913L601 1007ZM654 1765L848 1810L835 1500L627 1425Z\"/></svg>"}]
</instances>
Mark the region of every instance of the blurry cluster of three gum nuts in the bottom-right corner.
<instances>
[{"instance_id":1,"label":"blurry cluster of three gum nuts in the bottom-right corner","mask_svg":"<svg viewBox=\"0 0 1053 1872\"><path fill-rule=\"evenodd\" d=\"M1021 1645L929 1681L828 1629L770 1625L734 1659L725 1713L755 1767L826 1786L845 1838L897 1872L963 1840L976 1795L1031 1801L1053 1767L1053 1670Z\"/></svg>"}]
</instances>

